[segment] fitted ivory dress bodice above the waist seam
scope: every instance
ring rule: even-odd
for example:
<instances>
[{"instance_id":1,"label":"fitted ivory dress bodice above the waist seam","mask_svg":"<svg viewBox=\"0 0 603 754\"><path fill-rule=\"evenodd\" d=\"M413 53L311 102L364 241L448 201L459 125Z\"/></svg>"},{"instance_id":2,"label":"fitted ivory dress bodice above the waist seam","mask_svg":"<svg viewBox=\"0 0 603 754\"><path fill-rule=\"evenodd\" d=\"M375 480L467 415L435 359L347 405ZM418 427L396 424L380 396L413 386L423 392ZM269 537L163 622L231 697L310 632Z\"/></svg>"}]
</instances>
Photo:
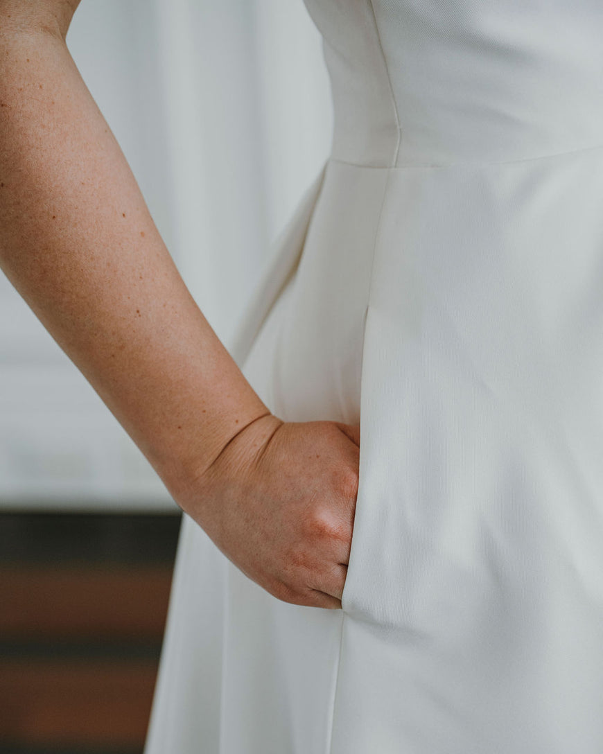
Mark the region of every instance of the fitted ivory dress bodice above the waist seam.
<instances>
[{"instance_id":1,"label":"fitted ivory dress bodice above the waist seam","mask_svg":"<svg viewBox=\"0 0 603 754\"><path fill-rule=\"evenodd\" d=\"M305 0L324 38L332 157L499 162L603 142L601 0Z\"/></svg>"}]
</instances>

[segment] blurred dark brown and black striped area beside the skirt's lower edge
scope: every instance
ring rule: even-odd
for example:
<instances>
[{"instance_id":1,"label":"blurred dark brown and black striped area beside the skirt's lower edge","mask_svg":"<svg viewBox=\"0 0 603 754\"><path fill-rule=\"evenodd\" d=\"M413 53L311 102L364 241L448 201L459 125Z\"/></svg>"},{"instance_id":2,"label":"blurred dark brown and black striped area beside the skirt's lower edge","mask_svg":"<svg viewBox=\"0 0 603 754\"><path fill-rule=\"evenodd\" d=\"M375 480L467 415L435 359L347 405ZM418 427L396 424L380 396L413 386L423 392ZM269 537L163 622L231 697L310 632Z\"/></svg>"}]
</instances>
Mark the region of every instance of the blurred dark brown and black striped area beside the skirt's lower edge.
<instances>
[{"instance_id":1,"label":"blurred dark brown and black striped area beside the skirt's lower edge","mask_svg":"<svg viewBox=\"0 0 603 754\"><path fill-rule=\"evenodd\" d=\"M178 530L0 515L0 754L142 752Z\"/></svg>"}]
</instances>

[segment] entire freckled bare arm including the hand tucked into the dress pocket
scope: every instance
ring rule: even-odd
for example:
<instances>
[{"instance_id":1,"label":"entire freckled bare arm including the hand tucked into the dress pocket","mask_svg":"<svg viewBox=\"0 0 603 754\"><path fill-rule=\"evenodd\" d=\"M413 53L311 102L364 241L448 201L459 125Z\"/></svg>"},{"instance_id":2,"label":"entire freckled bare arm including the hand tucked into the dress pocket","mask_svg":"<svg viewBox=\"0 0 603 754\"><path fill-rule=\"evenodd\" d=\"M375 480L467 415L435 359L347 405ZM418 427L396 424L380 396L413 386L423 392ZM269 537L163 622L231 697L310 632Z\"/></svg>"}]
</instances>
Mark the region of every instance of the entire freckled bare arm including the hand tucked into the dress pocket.
<instances>
[{"instance_id":1,"label":"entire freckled bare arm including the hand tucked into the dress pocket","mask_svg":"<svg viewBox=\"0 0 603 754\"><path fill-rule=\"evenodd\" d=\"M0 0L0 266L220 550L341 607L358 428L281 421L213 333L69 55L77 5Z\"/></svg>"}]
</instances>

